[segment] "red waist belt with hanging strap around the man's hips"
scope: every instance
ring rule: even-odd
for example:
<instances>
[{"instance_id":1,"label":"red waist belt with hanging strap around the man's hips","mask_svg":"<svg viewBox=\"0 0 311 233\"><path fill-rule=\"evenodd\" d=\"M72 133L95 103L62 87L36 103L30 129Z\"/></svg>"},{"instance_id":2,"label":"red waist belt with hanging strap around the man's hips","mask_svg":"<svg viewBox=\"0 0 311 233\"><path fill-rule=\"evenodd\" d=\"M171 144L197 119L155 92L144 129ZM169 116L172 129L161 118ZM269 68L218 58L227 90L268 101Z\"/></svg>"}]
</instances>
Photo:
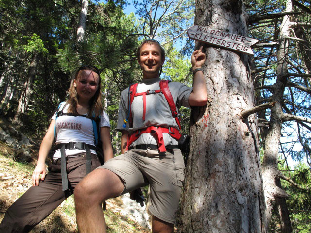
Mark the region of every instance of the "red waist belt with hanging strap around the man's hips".
<instances>
[{"instance_id":1,"label":"red waist belt with hanging strap around the man's hips","mask_svg":"<svg viewBox=\"0 0 311 233\"><path fill-rule=\"evenodd\" d=\"M128 140L127 140L128 141L127 145L130 146L143 133L156 133L157 145L159 147L160 152L166 151L164 140L163 140L163 133L169 133L177 141L181 137L181 134L179 133L179 131L176 128L173 128L173 127L162 128L162 127L150 126L148 128L137 130L134 133L129 134L129 137L128 137Z\"/></svg>"}]
</instances>

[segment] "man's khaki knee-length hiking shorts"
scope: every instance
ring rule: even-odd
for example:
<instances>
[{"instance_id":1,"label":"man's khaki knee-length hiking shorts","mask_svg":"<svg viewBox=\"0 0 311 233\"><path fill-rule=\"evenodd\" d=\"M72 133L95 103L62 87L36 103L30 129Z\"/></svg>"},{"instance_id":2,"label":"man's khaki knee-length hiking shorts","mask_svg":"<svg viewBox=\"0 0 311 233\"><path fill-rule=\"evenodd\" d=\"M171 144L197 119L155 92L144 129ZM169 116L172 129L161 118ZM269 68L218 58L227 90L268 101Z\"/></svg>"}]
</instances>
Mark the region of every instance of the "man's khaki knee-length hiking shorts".
<instances>
[{"instance_id":1,"label":"man's khaki knee-length hiking shorts","mask_svg":"<svg viewBox=\"0 0 311 233\"><path fill-rule=\"evenodd\" d=\"M152 149L132 149L98 168L106 168L124 181L125 188L120 195L150 184L149 211L165 222L175 223L185 177L180 149L168 149L162 153Z\"/></svg>"}]
</instances>

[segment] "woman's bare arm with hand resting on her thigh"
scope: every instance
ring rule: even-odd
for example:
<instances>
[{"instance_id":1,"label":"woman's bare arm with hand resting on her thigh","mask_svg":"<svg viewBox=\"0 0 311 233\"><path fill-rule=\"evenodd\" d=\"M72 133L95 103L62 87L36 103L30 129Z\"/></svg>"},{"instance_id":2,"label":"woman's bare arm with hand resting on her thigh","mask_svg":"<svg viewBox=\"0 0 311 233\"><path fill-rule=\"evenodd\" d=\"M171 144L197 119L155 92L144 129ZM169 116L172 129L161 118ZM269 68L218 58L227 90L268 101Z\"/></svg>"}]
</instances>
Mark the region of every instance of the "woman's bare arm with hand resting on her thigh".
<instances>
[{"instance_id":1,"label":"woman's bare arm with hand resting on her thigh","mask_svg":"<svg viewBox=\"0 0 311 233\"><path fill-rule=\"evenodd\" d=\"M40 145L38 163L37 163L37 166L35 167L35 170L32 176L33 186L39 185L40 174L42 174L41 176L42 181L45 178L45 175L46 175L45 160L54 142L54 137L55 137L54 129L55 129L55 120L52 120L49 126L49 129L48 129L48 132L45 134Z\"/></svg>"}]
</instances>

